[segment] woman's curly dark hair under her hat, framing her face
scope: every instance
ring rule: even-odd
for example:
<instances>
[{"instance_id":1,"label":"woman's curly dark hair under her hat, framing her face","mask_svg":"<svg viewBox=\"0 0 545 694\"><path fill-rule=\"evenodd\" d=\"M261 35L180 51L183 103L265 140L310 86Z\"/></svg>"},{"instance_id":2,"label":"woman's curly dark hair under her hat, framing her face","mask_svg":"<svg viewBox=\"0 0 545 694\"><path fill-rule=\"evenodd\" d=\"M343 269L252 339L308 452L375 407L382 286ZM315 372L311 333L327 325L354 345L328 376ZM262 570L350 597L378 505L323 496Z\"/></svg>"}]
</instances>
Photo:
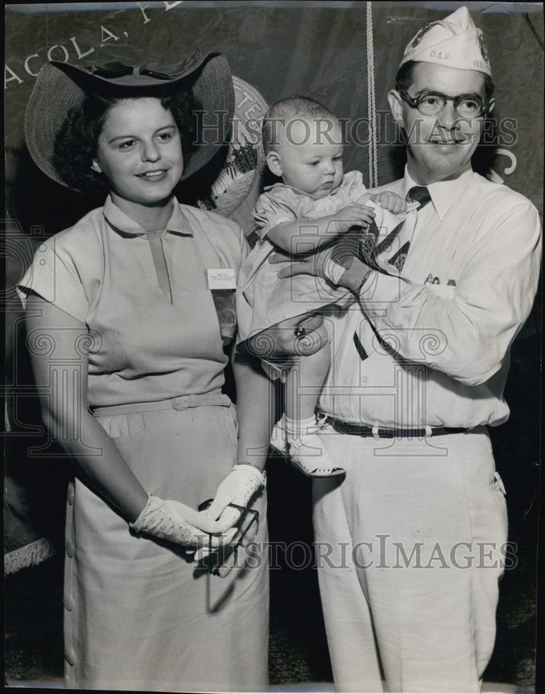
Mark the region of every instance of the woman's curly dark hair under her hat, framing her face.
<instances>
[{"instance_id":1,"label":"woman's curly dark hair under her hat, framing her face","mask_svg":"<svg viewBox=\"0 0 545 694\"><path fill-rule=\"evenodd\" d=\"M196 116L200 103L190 91L126 90L119 92L87 94L80 106L71 108L64 119L53 146L53 166L60 178L81 192L97 192L107 187L102 174L91 169L96 157L98 137L110 109L124 99L159 99L162 107L172 113L182 142L184 165L187 166L191 152L196 148Z\"/></svg>"}]
</instances>

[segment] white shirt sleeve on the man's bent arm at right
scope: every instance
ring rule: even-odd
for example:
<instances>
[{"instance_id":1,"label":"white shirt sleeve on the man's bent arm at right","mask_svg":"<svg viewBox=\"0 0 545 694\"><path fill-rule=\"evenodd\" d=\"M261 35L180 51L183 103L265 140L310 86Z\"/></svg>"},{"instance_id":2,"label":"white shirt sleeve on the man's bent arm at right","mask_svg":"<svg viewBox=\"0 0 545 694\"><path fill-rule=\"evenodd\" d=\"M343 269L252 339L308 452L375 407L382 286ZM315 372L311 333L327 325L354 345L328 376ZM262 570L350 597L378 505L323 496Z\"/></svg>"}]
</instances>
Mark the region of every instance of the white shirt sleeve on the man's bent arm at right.
<instances>
[{"instance_id":1,"label":"white shirt sleeve on the man's bent arm at right","mask_svg":"<svg viewBox=\"0 0 545 694\"><path fill-rule=\"evenodd\" d=\"M395 335L406 359L467 385L499 371L533 305L541 262L539 215L523 196L491 208L486 230L460 262L456 286L437 287L372 271L360 289L381 339ZM465 230L462 230L465 232ZM423 340L434 343L423 348Z\"/></svg>"}]
</instances>

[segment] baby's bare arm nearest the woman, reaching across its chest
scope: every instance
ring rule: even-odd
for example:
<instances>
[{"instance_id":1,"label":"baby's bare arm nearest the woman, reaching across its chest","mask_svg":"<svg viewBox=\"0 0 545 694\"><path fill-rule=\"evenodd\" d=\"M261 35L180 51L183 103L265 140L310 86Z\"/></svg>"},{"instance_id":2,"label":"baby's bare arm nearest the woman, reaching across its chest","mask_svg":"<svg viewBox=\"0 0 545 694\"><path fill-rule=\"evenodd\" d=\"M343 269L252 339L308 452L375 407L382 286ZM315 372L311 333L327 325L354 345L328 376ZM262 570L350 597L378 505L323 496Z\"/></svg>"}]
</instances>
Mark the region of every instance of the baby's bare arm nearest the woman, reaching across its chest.
<instances>
[{"instance_id":1,"label":"baby's bare arm nearest the woman, reaching across its chest","mask_svg":"<svg viewBox=\"0 0 545 694\"><path fill-rule=\"evenodd\" d=\"M267 238L288 253L312 253L353 226L372 223L375 214L361 202L363 197L328 217L281 222L268 231Z\"/></svg>"}]
</instances>

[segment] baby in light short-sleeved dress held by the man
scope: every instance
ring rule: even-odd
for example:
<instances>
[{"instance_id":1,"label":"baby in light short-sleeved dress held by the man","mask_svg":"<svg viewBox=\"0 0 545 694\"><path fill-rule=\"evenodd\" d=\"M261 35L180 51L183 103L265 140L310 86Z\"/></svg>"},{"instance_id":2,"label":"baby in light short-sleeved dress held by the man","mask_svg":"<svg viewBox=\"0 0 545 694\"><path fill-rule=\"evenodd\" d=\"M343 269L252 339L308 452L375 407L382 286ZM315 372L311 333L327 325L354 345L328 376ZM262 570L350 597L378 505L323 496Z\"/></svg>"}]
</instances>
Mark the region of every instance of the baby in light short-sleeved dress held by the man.
<instances>
[{"instance_id":1,"label":"baby in light short-sleeved dress held by the man","mask_svg":"<svg viewBox=\"0 0 545 694\"><path fill-rule=\"evenodd\" d=\"M343 173L340 123L312 99L294 96L273 104L263 119L263 148L268 168L282 178L282 183L266 188L255 206L259 241L239 273L236 308L237 349L267 357L273 353L280 331L288 330L304 339L301 321L326 306L346 306L354 301L345 289L319 278L300 275L279 279L278 266L269 262L271 253L282 249L308 254L325 246L331 250L349 229L365 229L374 221L376 206L366 203L379 203L395 213L404 212L406 203L392 192L367 193L358 171ZM331 259L329 262L329 274L338 279L344 268ZM299 357L286 378L288 452L304 475L334 477L345 471L324 448L315 418L330 364L331 336L325 324L318 335L322 348ZM263 366L272 375L271 364L263 362Z\"/></svg>"}]
</instances>

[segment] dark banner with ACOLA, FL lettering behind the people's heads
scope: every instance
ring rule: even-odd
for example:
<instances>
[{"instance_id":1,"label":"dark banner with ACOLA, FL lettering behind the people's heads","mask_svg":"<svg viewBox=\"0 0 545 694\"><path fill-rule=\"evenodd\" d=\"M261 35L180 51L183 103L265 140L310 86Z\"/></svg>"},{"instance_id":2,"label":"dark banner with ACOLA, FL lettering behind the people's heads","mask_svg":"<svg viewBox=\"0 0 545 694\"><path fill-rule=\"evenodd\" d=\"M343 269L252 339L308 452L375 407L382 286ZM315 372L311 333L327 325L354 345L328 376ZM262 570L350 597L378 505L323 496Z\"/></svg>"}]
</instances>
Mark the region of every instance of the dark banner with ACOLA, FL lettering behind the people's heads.
<instances>
[{"instance_id":1,"label":"dark banner with ACOLA, FL lettering behind the people's heads","mask_svg":"<svg viewBox=\"0 0 545 694\"><path fill-rule=\"evenodd\" d=\"M352 123L367 117L367 3L141 3L146 4L150 7L144 11L137 8L137 3L85 3L71 12L62 11L61 5L49 5L46 11L33 12L8 6L6 64L12 70L7 73L10 80L5 90L9 211L21 223L42 224L47 233L53 233L65 226L65 222L76 219L80 210L87 210L89 205L79 196L63 195L56 185L37 176L22 158L22 115L33 86L33 77L24 69L29 56L34 57L27 65L37 72L48 51L52 60L66 60L68 56L69 62L82 65L100 62L104 56L111 56L112 51L119 51L123 44L133 46L144 62L164 64L176 62L197 47L205 53L222 51L233 73L254 85L269 103L283 96L304 94L324 102L339 117ZM168 4L173 7L166 10ZM501 151L488 152L486 164L492 164L505 183L524 193L542 210L541 7L539 3L467 4L487 38L496 84L494 115L501 121L498 146L487 148ZM105 5L108 10L101 9ZM420 26L444 17L460 5L459 2L372 3L377 111L381 124L379 183L397 178L403 166L402 153L397 151L402 148L388 144L395 130L386 115L386 95L393 86L403 48ZM98 9L79 9L83 7ZM80 54L89 49L94 51L78 59L74 44ZM511 125L512 122L516 124ZM365 124L358 134L365 141ZM348 146L345 169L361 169L367 178L364 144ZM32 205L28 205L31 191Z\"/></svg>"}]
</instances>

